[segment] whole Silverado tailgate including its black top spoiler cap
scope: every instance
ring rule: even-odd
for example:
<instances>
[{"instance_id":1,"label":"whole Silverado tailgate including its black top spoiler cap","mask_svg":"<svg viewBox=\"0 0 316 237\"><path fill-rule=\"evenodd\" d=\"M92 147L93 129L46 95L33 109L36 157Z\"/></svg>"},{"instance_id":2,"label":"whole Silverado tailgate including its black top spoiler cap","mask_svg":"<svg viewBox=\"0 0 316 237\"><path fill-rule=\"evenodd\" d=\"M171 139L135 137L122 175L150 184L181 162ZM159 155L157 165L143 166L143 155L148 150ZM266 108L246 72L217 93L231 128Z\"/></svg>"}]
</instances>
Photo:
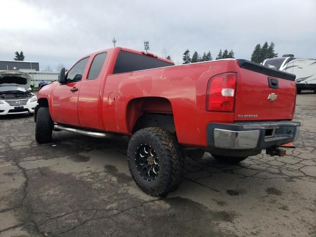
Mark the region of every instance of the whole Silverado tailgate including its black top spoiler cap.
<instances>
[{"instance_id":1,"label":"whole Silverado tailgate including its black top spoiler cap","mask_svg":"<svg viewBox=\"0 0 316 237\"><path fill-rule=\"evenodd\" d=\"M235 120L292 120L295 75L246 60L237 60Z\"/></svg>"}]
</instances>

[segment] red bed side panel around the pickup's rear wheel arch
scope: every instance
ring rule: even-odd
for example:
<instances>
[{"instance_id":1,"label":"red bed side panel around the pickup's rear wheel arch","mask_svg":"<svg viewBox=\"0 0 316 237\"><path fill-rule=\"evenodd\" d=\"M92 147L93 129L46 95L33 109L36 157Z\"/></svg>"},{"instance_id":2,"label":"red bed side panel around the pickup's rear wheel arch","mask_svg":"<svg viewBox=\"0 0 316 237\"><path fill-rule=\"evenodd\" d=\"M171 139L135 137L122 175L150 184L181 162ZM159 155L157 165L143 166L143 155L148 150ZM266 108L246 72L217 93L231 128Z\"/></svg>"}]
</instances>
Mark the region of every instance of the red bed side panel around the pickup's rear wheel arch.
<instances>
[{"instance_id":1,"label":"red bed side panel around the pickup's rear wheel arch","mask_svg":"<svg viewBox=\"0 0 316 237\"><path fill-rule=\"evenodd\" d=\"M205 111L208 80L225 71L230 64L237 67L234 60L227 60L108 76L104 103L111 92L116 94L116 101L111 105L108 103L103 110L107 130L130 134L126 122L129 101L140 97L162 97L171 103L178 141L206 146L206 125L209 122L232 123L234 120L233 113Z\"/></svg>"}]
</instances>

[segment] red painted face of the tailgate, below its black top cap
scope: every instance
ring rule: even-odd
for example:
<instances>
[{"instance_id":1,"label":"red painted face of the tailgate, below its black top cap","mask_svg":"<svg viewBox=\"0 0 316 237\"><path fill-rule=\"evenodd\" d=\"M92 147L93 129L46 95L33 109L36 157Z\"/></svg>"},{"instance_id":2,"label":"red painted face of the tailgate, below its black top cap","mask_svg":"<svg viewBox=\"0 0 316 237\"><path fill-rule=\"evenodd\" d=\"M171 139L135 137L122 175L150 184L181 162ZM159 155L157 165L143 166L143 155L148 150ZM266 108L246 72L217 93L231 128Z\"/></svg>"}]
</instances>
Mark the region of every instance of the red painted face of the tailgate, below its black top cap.
<instances>
[{"instance_id":1,"label":"red painted face of the tailgate, below its black top cap","mask_svg":"<svg viewBox=\"0 0 316 237\"><path fill-rule=\"evenodd\" d=\"M237 79L235 120L292 120L296 96L295 81L277 80L278 88L273 89L269 87L267 75L240 69ZM270 93L277 95L276 101L268 100ZM238 115L250 114L258 115L258 118L237 118Z\"/></svg>"}]
</instances>

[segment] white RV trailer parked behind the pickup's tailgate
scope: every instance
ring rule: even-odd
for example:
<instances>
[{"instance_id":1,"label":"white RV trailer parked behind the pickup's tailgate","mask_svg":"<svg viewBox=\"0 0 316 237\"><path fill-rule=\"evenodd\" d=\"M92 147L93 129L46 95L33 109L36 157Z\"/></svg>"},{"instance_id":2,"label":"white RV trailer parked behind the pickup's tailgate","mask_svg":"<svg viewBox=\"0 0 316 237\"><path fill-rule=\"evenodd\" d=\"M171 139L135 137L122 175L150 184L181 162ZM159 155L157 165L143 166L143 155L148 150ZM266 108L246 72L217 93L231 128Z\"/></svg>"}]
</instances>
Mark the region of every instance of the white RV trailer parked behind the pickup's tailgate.
<instances>
[{"instance_id":1,"label":"white RV trailer parked behind the pickup's tailgate","mask_svg":"<svg viewBox=\"0 0 316 237\"><path fill-rule=\"evenodd\" d=\"M316 93L316 59L294 58L293 54L284 54L279 58L269 58L264 66L296 75L297 93L302 90L314 90Z\"/></svg>"}]
</instances>

